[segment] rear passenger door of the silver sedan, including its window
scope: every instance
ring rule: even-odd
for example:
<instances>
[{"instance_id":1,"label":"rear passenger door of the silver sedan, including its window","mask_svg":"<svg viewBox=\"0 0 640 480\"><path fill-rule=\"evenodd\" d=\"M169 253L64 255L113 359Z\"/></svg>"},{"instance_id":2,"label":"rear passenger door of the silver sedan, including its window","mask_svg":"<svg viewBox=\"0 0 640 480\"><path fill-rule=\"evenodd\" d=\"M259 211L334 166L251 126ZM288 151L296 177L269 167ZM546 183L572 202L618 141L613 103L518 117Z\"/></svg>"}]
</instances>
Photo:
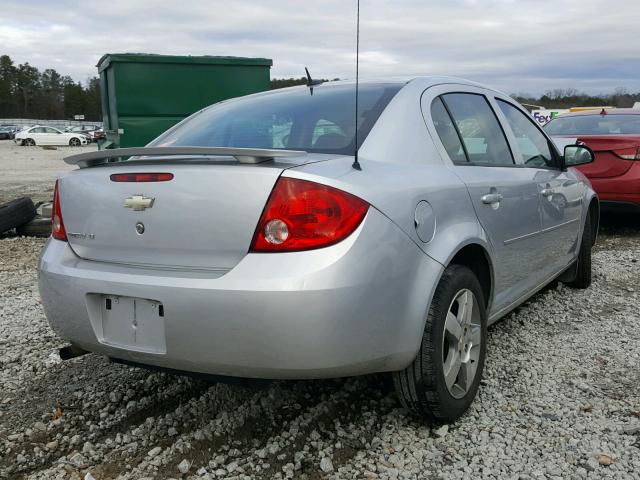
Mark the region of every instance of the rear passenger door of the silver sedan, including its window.
<instances>
[{"instance_id":1,"label":"rear passenger door of the silver sedan, including its window","mask_svg":"<svg viewBox=\"0 0 640 480\"><path fill-rule=\"evenodd\" d=\"M514 160L484 91L438 88L442 93L430 106L432 121L493 246L493 313L498 313L537 285L537 185L531 172Z\"/></svg>"}]
</instances>

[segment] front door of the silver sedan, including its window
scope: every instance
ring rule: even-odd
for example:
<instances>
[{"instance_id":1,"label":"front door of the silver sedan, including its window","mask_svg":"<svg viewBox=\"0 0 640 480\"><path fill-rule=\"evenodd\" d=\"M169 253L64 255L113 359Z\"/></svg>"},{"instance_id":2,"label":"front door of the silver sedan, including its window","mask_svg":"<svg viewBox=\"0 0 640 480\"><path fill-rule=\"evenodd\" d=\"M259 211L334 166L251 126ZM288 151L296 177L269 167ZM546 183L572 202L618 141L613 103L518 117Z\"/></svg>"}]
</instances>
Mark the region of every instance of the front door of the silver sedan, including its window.
<instances>
[{"instance_id":1,"label":"front door of the silver sedan, including its window","mask_svg":"<svg viewBox=\"0 0 640 480\"><path fill-rule=\"evenodd\" d=\"M586 186L572 172L562 171L552 141L531 117L507 99L496 104L515 138L514 150L535 175L540 194L541 235L538 252L542 275L550 277L571 263L577 251L582 199Z\"/></svg>"}]
</instances>

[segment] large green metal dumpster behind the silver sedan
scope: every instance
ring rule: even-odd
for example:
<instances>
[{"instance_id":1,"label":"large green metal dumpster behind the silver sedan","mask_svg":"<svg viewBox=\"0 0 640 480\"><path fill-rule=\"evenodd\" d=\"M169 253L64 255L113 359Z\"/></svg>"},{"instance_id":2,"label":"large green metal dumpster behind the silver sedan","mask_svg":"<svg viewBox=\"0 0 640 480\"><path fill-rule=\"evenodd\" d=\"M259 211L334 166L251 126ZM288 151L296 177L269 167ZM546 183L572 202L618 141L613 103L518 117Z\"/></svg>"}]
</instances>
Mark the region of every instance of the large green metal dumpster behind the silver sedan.
<instances>
[{"instance_id":1,"label":"large green metal dumpster behind the silver sedan","mask_svg":"<svg viewBox=\"0 0 640 480\"><path fill-rule=\"evenodd\" d=\"M203 107L269 89L267 58L106 54L98 62L106 141L141 147Z\"/></svg>"}]
</instances>

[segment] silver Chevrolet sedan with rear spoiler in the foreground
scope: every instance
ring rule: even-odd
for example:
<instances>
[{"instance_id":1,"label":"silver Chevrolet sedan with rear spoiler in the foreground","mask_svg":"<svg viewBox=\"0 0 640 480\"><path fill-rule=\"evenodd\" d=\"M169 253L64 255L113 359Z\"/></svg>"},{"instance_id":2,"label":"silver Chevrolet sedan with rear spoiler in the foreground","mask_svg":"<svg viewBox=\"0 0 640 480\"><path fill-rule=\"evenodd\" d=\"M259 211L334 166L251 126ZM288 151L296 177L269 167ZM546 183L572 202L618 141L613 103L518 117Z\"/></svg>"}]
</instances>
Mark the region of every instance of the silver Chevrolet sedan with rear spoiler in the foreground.
<instances>
[{"instance_id":1,"label":"silver Chevrolet sedan with rear spoiler in the foreground","mask_svg":"<svg viewBox=\"0 0 640 480\"><path fill-rule=\"evenodd\" d=\"M68 157L39 261L65 358L389 372L411 411L458 418L487 325L556 279L590 284L598 198L571 167L593 153L452 78L362 82L356 136L354 86L227 100L147 148Z\"/></svg>"}]
</instances>

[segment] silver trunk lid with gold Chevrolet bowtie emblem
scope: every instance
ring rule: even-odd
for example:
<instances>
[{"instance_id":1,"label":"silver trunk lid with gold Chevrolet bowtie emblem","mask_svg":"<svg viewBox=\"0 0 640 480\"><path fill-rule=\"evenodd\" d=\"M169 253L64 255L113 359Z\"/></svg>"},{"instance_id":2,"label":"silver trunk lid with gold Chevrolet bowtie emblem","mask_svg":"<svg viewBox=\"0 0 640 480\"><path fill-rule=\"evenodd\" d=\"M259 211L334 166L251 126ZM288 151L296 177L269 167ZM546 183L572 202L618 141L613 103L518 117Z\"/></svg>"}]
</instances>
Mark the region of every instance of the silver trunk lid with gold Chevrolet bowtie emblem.
<instances>
[{"instance_id":1,"label":"silver trunk lid with gold Chevrolet bowtie emblem","mask_svg":"<svg viewBox=\"0 0 640 480\"><path fill-rule=\"evenodd\" d=\"M73 171L59 180L69 244L88 260L228 270L247 254L282 171L329 158L306 155L261 164L161 160ZM173 178L161 182L110 179L121 173L171 173ZM142 209L145 204L147 208Z\"/></svg>"}]
</instances>

